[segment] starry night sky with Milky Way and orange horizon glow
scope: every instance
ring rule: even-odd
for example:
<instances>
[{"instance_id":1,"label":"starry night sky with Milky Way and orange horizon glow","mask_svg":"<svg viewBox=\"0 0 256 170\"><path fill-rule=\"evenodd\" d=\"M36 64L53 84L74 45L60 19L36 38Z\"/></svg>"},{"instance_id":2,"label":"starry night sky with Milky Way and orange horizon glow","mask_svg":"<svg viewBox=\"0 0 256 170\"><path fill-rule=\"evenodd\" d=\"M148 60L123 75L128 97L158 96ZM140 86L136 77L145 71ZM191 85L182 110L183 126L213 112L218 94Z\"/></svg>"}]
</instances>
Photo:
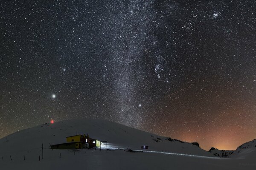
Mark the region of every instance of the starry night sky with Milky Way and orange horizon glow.
<instances>
[{"instance_id":1,"label":"starry night sky with Milky Way and orange horizon glow","mask_svg":"<svg viewBox=\"0 0 256 170\"><path fill-rule=\"evenodd\" d=\"M0 138L99 118L236 149L256 138L254 0L1 0Z\"/></svg>"}]
</instances>

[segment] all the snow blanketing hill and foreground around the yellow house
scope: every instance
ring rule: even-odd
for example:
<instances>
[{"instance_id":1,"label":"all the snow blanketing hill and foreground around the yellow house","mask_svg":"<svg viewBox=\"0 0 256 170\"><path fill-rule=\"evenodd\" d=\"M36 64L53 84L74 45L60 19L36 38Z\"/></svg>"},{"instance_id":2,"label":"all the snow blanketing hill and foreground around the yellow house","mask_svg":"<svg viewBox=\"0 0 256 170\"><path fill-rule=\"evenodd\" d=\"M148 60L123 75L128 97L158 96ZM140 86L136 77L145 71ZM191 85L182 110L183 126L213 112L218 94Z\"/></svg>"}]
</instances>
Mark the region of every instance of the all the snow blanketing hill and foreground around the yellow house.
<instances>
[{"instance_id":1,"label":"all the snow blanketing hill and foreground around the yellow house","mask_svg":"<svg viewBox=\"0 0 256 170\"><path fill-rule=\"evenodd\" d=\"M126 152L122 149L51 150L49 148L49 143L65 142L66 136L87 133L91 138L108 141L108 148L131 148L135 152ZM243 150L246 159L239 156L218 158L194 144L166 139L163 136L105 120L77 119L55 122L21 130L0 139L0 169L250 170L256 168L254 163L256 153L251 147ZM42 143L44 159L42 159ZM142 152L140 146L143 145L149 146L149 149Z\"/></svg>"}]
</instances>

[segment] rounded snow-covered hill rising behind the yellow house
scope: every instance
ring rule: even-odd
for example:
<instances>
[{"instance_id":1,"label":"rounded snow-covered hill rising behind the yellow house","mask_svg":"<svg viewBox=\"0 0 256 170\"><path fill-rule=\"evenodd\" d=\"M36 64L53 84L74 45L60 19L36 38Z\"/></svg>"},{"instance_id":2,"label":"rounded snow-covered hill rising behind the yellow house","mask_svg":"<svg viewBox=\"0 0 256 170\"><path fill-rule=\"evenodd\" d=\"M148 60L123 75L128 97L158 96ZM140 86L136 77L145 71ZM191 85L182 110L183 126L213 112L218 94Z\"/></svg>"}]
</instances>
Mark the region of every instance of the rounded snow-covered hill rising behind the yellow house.
<instances>
[{"instance_id":1,"label":"rounded snow-covered hill rising behind the yellow house","mask_svg":"<svg viewBox=\"0 0 256 170\"><path fill-rule=\"evenodd\" d=\"M20 150L20 146L22 146L22 150L29 150L40 147L42 143L45 147L49 147L49 143L66 142L66 136L87 133L91 138L108 141L108 147L112 148L139 150L141 146L148 145L148 149L154 151L212 156L211 153L198 147L197 143L181 142L98 119L67 120L21 130L0 139L0 150L2 152L17 151Z\"/></svg>"}]
</instances>

